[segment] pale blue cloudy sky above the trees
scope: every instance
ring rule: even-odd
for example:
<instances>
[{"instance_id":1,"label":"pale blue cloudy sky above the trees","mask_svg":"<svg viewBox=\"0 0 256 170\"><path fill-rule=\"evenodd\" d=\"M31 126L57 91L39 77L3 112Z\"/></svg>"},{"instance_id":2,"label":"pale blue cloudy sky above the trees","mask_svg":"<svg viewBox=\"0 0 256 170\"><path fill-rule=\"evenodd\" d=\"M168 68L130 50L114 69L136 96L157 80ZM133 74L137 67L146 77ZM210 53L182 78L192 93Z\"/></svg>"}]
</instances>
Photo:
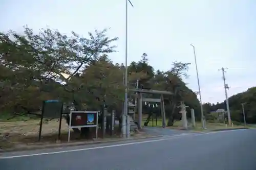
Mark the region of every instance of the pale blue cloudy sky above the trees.
<instances>
[{"instance_id":1,"label":"pale blue cloudy sky above the trees","mask_svg":"<svg viewBox=\"0 0 256 170\"><path fill-rule=\"evenodd\" d=\"M173 61L191 63L185 80L198 91L195 45L202 102L225 100L221 67L227 67L228 96L256 86L256 2L253 0L131 0L128 9L128 64L146 53L149 64L166 71ZM74 31L82 36L109 29L117 53L114 63L125 61L125 0L2 0L0 31L23 31L28 25Z\"/></svg>"}]
</instances>

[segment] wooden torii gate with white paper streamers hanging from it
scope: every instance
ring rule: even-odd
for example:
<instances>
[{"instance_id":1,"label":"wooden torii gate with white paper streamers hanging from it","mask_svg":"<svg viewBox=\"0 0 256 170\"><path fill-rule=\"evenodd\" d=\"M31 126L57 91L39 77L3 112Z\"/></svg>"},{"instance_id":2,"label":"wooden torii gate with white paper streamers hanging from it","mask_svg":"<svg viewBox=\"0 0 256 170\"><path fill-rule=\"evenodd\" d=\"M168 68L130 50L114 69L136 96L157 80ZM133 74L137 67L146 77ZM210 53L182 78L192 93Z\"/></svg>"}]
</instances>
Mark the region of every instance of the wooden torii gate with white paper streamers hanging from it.
<instances>
[{"instance_id":1,"label":"wooden torii gate with white paper streamers hanging from it","mask_svg":"<svg viewBox=\"0 0 256 170\"><path fill-rule=\"evenodd\" d=\"M164 99L163 94L172 95L172 92L169 91L159 91L159 90L143 90L143 89L129 89L129 91L137 92L138 101L138 114L139 114L139 121L138 121L138 128L142 129L142 102L159 102L161 106L161 115L162 115L162 127L166 127L166 119L165 119L165 109L164 109ZM152 99L152 98L143 98L143 93L150 93L150 94L160 94L160 99Z\"/></svg>"}]
</instances>

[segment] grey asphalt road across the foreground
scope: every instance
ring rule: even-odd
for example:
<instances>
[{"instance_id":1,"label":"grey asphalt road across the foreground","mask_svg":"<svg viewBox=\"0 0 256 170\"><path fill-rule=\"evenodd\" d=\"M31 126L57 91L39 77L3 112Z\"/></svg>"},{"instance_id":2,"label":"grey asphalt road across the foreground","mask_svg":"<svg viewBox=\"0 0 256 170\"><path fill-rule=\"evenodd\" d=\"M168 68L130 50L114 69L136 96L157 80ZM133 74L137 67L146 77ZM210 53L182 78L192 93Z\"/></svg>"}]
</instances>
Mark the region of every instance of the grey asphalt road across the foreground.
<instances>
[{"instance_id":1,"label":"grey asphalt road across the foreground","mask_svg":"<svg viewBox=\"0 0 256 170\"><path fill-rule=\"evenodd\" d=\"M5 153L0 155L0 169L255 170L255 143L256 130L176 135L90 148Z\"/></svg>"}]
</instances>

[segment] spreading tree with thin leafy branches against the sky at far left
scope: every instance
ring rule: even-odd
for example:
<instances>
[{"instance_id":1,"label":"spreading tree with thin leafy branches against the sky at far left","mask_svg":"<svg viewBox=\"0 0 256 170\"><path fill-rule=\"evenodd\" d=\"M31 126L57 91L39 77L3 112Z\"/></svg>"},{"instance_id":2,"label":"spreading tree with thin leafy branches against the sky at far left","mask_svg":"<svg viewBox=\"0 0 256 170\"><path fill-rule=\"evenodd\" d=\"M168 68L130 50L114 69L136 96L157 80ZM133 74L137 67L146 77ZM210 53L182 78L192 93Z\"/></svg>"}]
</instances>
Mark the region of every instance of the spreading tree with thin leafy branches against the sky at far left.
<instances>
[{"instance_id":1,"label":"spreading tree with thin leafy branches against the sky at far left","mask_svg":"<svg viewBox=\"0 0 256 170\"><path fill-rule=\"evenodd\" d=\"M8 99L25 108L33 106L28 103L31 98L39 98L38 101L56 96L61 98L59 94L54 96L55 90L46 88L49 84L73 93L79 89L79 82L74 84L74 81L70 82L71 78L93 60L98 60L100 55L114 52L115 45L111 43L117 38L110 39L105 33L106 30L95 31L94 34L89 33L89 38L84 38L72 32L68 37L51 29L42 29L39 34L34 34L28 27L25 27L23 35L11 30L7 34L0 33L1 66L13 75L1 80L2 93L9 90L8 94L13 95L8 95ZM41 95L45 93L49 95ZM29 94L30 98L23 98Z\"/></svg>"}]
</instances>

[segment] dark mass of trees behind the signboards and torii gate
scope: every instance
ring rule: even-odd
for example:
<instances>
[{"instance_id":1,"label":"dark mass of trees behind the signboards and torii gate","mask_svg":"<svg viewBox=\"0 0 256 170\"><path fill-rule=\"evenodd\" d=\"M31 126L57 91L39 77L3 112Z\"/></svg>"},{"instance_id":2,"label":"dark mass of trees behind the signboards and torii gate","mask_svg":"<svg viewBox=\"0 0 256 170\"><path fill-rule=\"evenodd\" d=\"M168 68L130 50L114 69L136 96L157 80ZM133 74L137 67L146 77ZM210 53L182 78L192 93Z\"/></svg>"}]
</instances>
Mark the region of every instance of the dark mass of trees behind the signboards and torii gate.
<instances>
[{"instance_id":1,"label":"dark mass of trees behind the signboards and torii gate","mask_svg":"<svg viewBox=\"0 0 256 170\"><path fill-rule=\"evenodd\" d=\"M35 34L28 27L23 34L0 33L1 113L37 112L42 101L58 99L73 103L78 110L100 110L106 105L120 115L124 66L108 57L115 52L116 46L112 44L117 39L107 37L106 30L96 30L87 38L51 29ZM183 82L188 66L189 63L174 61L168 71L154 70L145 53L140 61L129 65L129 87L135 88L139 80L139 88L174 93L164 99L168 126L179 117L180 101L194 108L200 119L197 95ZM129 93L129 99L133 98L134 94Z\"/></svg>"}]
</instances>

